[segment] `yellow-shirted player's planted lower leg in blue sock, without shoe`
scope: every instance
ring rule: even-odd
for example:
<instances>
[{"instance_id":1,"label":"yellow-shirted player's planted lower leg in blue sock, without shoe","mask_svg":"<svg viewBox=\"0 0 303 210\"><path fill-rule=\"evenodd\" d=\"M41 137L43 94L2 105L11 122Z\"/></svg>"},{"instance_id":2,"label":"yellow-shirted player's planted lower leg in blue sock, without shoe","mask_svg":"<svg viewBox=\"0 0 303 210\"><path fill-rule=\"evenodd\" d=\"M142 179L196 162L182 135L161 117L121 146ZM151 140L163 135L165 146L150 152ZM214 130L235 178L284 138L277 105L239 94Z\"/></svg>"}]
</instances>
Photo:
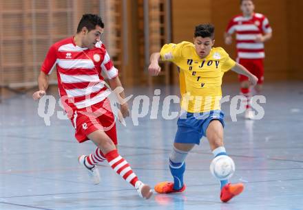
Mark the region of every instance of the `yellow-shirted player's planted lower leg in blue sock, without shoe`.
<instances>
[{"instance_id":1,"label":"yellow-shirted player's planted lower leg in blue sock, without shoe","mask_svg":"<svg viewBox=\"0 0 303 210\"><path fill-rule=\"evenodd\" d=\"M174 143L174 148L169 156L169 170L174 177L174 190L180 190L184 185L185 158L194 145L194 143Z\"/></svg>"}]
</instances>

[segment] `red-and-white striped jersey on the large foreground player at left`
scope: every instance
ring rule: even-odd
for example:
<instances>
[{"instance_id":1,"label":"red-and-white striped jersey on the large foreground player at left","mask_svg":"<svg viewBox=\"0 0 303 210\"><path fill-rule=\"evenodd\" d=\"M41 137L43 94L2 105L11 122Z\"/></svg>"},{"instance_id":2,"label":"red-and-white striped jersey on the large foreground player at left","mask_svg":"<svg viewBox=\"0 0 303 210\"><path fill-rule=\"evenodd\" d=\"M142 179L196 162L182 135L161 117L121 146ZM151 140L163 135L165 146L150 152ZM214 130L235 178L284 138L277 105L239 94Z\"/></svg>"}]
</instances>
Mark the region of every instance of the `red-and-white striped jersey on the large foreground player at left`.
<instances>
[{"instance_id":1,"label":"red-and-white striped jersey on the large foreground player at left","mask_svg":"<svg viewBox=\"0 0 303 210\"><path fill-rule=\"evenodd\" d=\"M59 94L67 112L70 111L68 106L76 110L105 100L110 91L105 86L102 71L109 79L118 75L103 43L87 49L76 46L73 37L50 47L41 71L49 75L55 65Z\"/></svg>"}]
</instances>

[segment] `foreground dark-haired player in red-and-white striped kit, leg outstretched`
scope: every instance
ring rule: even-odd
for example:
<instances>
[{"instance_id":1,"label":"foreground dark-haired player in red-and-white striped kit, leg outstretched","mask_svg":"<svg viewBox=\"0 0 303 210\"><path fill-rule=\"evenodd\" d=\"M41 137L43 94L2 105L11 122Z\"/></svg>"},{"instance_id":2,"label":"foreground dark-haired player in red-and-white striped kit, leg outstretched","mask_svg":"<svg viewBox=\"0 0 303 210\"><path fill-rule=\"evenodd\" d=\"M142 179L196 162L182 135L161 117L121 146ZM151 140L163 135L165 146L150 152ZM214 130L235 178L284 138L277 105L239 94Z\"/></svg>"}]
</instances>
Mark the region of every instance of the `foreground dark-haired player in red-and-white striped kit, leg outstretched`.
<instances>
[{"instance_id":1,"label":"foreground dark-haired player in red-and-white striped kit, leg outstretched","mask_svg":"<svg viewBox=\"0 0 303 210\"><path fill-rule=\"evenodd\" d=\"M109 79L111 89L122 87L118 70L109 59L101 42L104 23L96 14L84 14L76 35L54 43L41 67L39 91L33 94L34 100L45 95L48 77L56 66L59 94L67 116L75 128L75 137L81 143L92 140L97 145L90 155L79 156L79 163L89 172L92 182L100 182L96 164L107 160L112 169L133 185L143 198L150 198L152 192L143 184L129 163L116 150L116 124L112 109L107 100L111 93L101 73ZM123 92L117 95L123 117L129 116L127 103L123 104Z\"/></svg>"}]
</instances>

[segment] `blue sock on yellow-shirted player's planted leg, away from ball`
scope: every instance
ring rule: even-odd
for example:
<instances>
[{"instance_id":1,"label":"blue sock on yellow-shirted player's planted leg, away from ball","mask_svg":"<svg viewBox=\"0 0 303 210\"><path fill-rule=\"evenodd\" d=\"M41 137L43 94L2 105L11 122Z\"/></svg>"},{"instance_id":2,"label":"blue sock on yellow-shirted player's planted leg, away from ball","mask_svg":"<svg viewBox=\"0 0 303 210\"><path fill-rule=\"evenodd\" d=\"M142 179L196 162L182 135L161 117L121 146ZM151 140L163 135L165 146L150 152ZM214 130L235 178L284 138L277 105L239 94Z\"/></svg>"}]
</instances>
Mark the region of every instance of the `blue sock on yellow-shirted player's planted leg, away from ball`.
<instances>
[{"instance_id":1,"label":"blue sock on yellow-shirted player's planted leg, away from ball","mask_svg":"<svg viewBox=\"0 0 303 210\"><path fill-rule=\"evenodd\" d=\"M185 172L185 162L174 163L169 159L169 169L174 177L174 189L181 189L184 185L183 174Z\"/></svg>"}]
</instances>

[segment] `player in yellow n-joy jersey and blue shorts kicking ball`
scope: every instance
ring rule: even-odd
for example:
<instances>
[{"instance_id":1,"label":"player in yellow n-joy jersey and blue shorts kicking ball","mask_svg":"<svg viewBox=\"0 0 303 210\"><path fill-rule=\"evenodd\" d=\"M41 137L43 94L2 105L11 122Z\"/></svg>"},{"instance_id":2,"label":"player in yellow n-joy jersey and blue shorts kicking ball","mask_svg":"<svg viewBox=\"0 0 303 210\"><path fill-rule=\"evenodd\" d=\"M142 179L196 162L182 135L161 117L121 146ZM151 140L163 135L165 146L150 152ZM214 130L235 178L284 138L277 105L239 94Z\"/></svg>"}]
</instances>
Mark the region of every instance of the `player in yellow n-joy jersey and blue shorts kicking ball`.
<instances>
[{"instance_id":1,"label":"player in yellow n-joy jersey and blue shorts kicking ball","mask_svg":"<svg viewBox=\"0 0 303 210\"><path fill-rule=\"evenodd\" d=\"M221 47L213 47L214 27L211 24L196 26L194 43L182 42L164 45L160 52L151 54L149 73L158 75L158 60L174 62L180 69L181 115L174 148L169 156L169 169L174 182L158 183L158 193L185 190L183 174L185 158L202 137L207 137L213 156L227 155L223 143L224 114L220 110L222 76L231 69L246 75L255 85L258 78L237 64ZM220 180L222 202L228 202L244 189L242 183L231 184Z\"/></svg>"}]
</instances>

